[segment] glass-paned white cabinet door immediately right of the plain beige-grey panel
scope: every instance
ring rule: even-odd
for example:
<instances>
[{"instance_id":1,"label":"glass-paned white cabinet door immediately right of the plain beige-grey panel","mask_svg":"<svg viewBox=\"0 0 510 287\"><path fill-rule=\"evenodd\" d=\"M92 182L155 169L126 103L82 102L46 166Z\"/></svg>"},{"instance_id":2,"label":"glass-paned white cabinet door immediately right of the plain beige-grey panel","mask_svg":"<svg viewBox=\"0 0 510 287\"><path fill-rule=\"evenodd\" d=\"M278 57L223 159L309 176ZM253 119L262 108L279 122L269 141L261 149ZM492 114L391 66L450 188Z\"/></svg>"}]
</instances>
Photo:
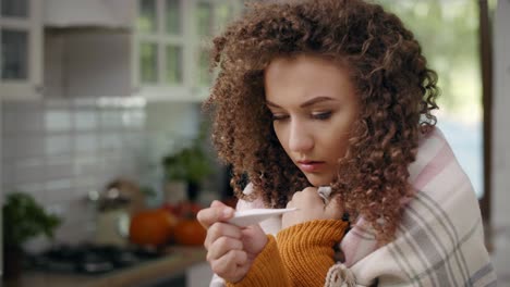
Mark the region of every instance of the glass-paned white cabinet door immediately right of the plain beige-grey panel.
<instances>
[{"instance_id":1,"label":"glass-paned white cabinet door immediately right of the plain beige-grey panel","mask_svg":"<svg viewBox=\"0 0 510 287\"><path fill-rule=\"evenodd\" d=\"M137 0L132 82L138 96L190 99L187 10L185 0Z\"/></svg>"}]
</instances>

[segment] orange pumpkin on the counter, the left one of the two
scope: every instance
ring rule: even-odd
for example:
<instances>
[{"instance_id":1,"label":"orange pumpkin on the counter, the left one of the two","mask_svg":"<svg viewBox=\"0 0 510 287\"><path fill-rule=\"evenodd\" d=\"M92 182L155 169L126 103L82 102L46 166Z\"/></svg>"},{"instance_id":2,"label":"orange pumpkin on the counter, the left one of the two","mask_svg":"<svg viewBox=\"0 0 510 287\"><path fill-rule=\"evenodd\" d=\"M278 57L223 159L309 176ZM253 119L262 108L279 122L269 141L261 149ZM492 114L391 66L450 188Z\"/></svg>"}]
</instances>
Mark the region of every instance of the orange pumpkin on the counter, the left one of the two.
<instances>
[{"instance_id":1,"label":"orange pumpkin on the counter, the left one of the two","mask_svg":"<svg viewBox=\"0 0 510 287\"><path fill-rule=\"evenodd\" d=\"M166 210L145 210L130 223L130 239L142 246L162 246L172 238L177 219Z\"/></svg>"}]
</instances>

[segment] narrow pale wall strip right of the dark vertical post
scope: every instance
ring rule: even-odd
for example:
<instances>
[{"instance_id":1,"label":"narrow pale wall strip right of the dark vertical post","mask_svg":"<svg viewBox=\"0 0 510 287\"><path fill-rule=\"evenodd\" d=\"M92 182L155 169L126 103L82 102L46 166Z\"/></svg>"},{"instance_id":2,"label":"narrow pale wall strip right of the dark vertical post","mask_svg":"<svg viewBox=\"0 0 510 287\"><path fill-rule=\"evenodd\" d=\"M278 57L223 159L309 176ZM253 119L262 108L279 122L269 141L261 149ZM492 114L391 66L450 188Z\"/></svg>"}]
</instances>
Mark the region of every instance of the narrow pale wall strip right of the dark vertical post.
<instances>
[{"instance_id":1,"label":"narrow pale wall strip right of the dark vertical post","mask_svg":"<svg viewBox=\"0 0 510 287\"><path fill-rule=\"evenodd\" d=\"M494 29L491 260L500 286L510 286L510 0L498 0Z\"/></svg>"}]
</instances>

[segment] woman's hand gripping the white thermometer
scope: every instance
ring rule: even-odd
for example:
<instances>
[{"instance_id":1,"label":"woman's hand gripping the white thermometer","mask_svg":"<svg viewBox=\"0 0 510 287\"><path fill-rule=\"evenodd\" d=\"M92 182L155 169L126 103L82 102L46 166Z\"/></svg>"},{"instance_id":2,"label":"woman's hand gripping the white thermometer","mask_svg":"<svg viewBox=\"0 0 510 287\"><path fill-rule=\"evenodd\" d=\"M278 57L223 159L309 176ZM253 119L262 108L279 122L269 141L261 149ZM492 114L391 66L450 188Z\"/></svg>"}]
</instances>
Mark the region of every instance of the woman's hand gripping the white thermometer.
<instances>
[{"instance_id":1,"label":"woman's hand gripping the white thermometer","mask_svg":"<svg viewBox=\"0 0 510 287\"><path fill-rule=\"evenodd\" d=\"M215 200L210 208L198 212L197 219L207 229L204 246L212 272L236 283L247 274L267 237L258 224L241 228L227 223L233 214L232 208Z\"/></svg>"}]
</instances>

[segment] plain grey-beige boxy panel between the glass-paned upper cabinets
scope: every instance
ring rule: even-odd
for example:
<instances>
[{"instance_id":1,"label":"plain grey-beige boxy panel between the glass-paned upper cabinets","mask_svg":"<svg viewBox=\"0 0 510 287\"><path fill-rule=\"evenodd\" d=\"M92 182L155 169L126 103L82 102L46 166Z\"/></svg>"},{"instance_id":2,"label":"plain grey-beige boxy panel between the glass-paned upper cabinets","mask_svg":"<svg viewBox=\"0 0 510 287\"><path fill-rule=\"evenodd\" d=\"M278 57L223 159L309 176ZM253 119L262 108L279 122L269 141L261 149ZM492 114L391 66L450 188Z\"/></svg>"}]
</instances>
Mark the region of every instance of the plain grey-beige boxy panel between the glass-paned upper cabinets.
<instances>
[{"instance_id":1,"label":"plain grey-beige boxy panel between the glass-paned upper cabinets","mask_svg":"<svg viewBox=\"0 0 510 287\"><path fill-rule=\"evenodd\" d=\"M131 33L96 27L47 28L46 98L129 97Z\"/></svg>"}]
</instances>

